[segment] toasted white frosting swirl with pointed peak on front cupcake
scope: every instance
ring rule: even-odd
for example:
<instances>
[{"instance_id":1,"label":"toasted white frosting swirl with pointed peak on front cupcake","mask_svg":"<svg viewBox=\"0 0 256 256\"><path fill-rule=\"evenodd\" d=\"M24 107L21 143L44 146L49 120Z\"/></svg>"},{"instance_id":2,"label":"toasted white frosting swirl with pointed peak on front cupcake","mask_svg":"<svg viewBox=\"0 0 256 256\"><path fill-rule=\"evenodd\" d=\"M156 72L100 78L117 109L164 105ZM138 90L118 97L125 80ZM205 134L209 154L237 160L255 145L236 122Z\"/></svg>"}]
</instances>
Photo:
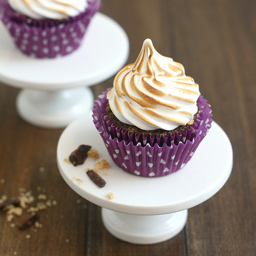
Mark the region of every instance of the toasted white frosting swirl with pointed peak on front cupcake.
<instances>
[{"instance_id":1,"label":"toasted white frosting swirl with pointed peak on front cupcake","mask_svg":"<svg viewBox=\"0 0 256 256\"><path fill-rule=\"evenodd\" d=\"M143 42L137 60L121 69L108 93L114 115L142 130L173 130L193 123L199 86L184 67Z\"/></svg>"}]
</instances>

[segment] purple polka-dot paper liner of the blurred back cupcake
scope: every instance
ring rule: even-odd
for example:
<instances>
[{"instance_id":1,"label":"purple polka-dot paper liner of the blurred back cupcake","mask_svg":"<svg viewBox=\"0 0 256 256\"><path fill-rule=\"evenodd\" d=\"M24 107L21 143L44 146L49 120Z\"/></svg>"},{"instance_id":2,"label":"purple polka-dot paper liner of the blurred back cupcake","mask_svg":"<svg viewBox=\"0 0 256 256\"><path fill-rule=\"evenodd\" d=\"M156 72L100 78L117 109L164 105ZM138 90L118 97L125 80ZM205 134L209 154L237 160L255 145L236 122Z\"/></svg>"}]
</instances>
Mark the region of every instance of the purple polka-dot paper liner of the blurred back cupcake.
<instances>
[{"instance_id":1,"label":"purple polka-dot paper liner of the blurred back cupcake","mask_svg":"<svg viewBox=\"0 0 256 256\"><path fill-rule=\"evenodd\" d=\"M19 15L1 0L0 18L17 48L36 58L55 58L74 52L81 44L93 15L100 9L100 0L89 1L88 8L67 20L35 20Z\"/></svg>"}]
</instances>

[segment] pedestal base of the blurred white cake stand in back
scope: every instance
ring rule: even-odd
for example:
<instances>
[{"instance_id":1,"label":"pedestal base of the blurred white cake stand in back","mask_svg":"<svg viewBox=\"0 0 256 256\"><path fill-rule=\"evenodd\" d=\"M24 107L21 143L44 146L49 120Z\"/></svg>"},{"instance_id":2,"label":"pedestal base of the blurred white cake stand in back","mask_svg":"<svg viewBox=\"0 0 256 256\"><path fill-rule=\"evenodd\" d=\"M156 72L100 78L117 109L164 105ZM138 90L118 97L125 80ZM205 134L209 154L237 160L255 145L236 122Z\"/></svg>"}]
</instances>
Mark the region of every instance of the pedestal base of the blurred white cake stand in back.
<instances>
[{"instance_id":1,"label":"pedestal base of the blurred white cake stand in back","mask_svg":"<svg viewBox=\"0 0 256 256\"><path fill-rule=\"evenodd\" d=\"M61 128L86 114L94 96L86 87L59 91L24 89L16 98L17 112L25 121L45 128Z\"/></svg>"}]
</instances>

